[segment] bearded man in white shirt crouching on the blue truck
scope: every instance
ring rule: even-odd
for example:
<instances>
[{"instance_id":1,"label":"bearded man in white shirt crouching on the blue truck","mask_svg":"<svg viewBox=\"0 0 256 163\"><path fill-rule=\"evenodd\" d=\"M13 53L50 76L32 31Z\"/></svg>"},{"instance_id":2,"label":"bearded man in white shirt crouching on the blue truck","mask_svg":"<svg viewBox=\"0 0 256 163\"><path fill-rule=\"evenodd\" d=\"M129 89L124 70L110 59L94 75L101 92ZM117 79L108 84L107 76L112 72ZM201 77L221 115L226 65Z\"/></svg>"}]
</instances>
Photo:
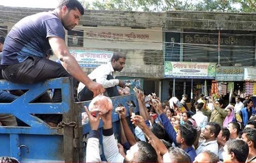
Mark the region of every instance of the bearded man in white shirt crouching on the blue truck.
<instances>
[{"instance_id":1,"label":"bearded man in white shirt crouching on the blue truck","mask_svg":"<svg viewBox=\"0 0 256 163\"><path fill-rule=\"evenodd\" d=\"M100 65L88 77L102 84L109 97L118 96L119 93L116 86L123 88L125 85L121 80L115 79L113 72L122 71L125 66L125 60L126 57L122 53L114 53L111 62L106 65ZM77 98L79 101L89 101L93 99L93 92L80 82L77 89Z\"/></svg>"}]
</instances>

